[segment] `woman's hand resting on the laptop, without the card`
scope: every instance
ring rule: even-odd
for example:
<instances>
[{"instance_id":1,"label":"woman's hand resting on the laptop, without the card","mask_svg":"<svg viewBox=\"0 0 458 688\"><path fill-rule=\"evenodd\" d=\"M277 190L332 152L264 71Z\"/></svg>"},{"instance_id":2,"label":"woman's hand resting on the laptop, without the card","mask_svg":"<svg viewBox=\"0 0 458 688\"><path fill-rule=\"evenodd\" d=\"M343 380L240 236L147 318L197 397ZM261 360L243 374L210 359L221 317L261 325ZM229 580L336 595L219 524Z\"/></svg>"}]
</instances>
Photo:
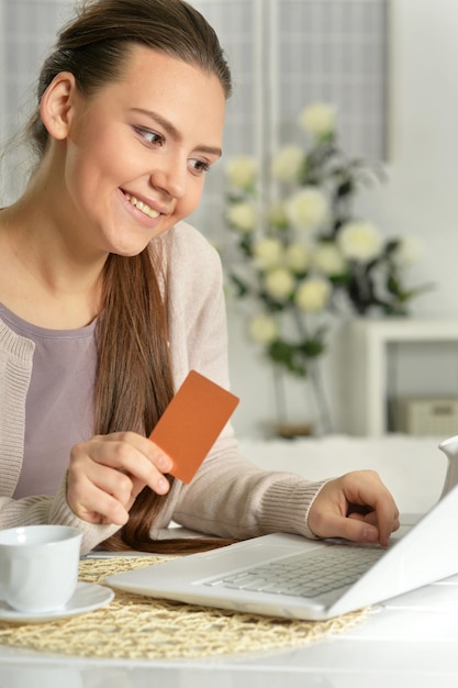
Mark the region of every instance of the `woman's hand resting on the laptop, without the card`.
<instances>
[{"instance_id":1,"label":"woman's hand resting on the laptop, without the card","mask_svg":"<svg viewBox=\"0 0 458 688\"><path fill-rule=\"evenodd\" d=\"M379 542L384 547L399 525L394 499L373 470L329 480L309 512L309 526L317 537Z\"/></svg>"}]
</instances>

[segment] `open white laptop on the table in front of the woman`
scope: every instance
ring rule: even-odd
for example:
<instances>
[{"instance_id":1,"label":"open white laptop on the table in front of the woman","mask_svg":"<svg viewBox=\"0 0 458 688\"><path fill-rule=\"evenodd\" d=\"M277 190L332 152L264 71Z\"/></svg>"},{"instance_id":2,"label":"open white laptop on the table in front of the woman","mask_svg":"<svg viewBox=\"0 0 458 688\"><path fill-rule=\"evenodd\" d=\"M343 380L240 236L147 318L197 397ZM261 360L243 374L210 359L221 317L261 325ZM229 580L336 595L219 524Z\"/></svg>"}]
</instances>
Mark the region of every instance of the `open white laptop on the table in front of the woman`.
<instances>
[{"instance_id":1,"label":"open white laptop on the table in front of the woman","mask_svg":"<svg viewBox=\"0 0 458 688\"><path fill-rule=\"evenodd\" d=\"M387 548L275 533L107 578L114 588L204 607L325 620L458 573L458 486Z\"/></svg>"}]
</instances>

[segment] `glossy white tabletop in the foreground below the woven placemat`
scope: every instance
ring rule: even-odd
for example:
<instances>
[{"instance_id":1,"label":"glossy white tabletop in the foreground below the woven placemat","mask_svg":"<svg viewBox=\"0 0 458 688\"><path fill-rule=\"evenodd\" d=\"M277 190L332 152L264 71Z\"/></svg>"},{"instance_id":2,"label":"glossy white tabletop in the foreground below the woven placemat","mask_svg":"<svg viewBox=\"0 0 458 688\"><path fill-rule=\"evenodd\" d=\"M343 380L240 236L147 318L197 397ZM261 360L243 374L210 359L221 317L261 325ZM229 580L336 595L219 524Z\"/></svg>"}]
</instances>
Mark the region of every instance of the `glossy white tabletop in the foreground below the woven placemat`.
<instances>
[{"instance_id":1,"label":"glossy white tabletop in the foreground below the woven placemat","mask_svg":"<svg viewBox=\"0 0 458 688\"><path fill-rule=\"evenodd\" d=\"M456 688L458 579L429 586L436 604L409 596L362 624L312 645L247 657L183 662L63 658L0 648L3 688Z\"/></svg>"}]
</instances>

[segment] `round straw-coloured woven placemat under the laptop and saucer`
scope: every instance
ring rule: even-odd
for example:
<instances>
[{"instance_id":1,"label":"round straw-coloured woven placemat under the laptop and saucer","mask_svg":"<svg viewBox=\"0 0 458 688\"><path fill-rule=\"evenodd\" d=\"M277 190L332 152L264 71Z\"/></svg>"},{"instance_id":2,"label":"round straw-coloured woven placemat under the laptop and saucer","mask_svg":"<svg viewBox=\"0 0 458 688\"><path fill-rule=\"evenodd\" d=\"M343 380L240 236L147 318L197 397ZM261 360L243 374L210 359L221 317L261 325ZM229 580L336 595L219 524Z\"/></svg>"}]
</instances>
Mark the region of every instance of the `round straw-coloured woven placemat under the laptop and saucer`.
<instances>
[{"instance_id":1,"label":"round straw-coloured woven placemat under the laptop and saucer","mask_svg":"<svg viewBox=\"0 0 458 688\"><path fill-rule=\"evenodd\" d=\"M87 559L80 580L160 564L155 556ZM295 621L182 604L116 590L112 602L41 624L0 622L0 644L85 657L170 659L304 645L362 621L368 610L328 621Z\"/></svg>"}]
</instances>

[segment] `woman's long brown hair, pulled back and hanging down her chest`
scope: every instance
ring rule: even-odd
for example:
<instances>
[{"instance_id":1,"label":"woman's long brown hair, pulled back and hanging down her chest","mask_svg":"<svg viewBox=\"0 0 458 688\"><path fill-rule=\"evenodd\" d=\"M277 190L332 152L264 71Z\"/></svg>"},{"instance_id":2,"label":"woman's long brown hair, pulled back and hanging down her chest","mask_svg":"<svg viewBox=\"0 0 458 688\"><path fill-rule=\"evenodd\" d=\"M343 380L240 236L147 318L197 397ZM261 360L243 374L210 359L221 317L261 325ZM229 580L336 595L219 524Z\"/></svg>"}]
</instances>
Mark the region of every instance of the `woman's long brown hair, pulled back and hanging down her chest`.
<instances>
[{"instance_id":1,"label":"woman's long brown hair, pulled back and hanging down her chest","mask_svg":"<svg viewBox=\"0 0 458 688\"><path fill-rule=\"evenodd\" d=\"M70 71L81 93L90 97L122 76L127 52L135 44L216 75L230 96L231 73L216 34L190 4L182 0L92 0L83 2L76 19L59 33L38 78L38 102L60 71ZM38 109L27 133L40 162L48 134ZM137 256L111 254L107 260L97 329L97 434L134 430L148 435L172 397L167 280L161 271L166 249L166 240L156 241ZM145 488L131 509L129 523L105 546L197 548L192 541L182 546L152 543L149 531L164 499Z\"/></svg>"}]
</instances>

